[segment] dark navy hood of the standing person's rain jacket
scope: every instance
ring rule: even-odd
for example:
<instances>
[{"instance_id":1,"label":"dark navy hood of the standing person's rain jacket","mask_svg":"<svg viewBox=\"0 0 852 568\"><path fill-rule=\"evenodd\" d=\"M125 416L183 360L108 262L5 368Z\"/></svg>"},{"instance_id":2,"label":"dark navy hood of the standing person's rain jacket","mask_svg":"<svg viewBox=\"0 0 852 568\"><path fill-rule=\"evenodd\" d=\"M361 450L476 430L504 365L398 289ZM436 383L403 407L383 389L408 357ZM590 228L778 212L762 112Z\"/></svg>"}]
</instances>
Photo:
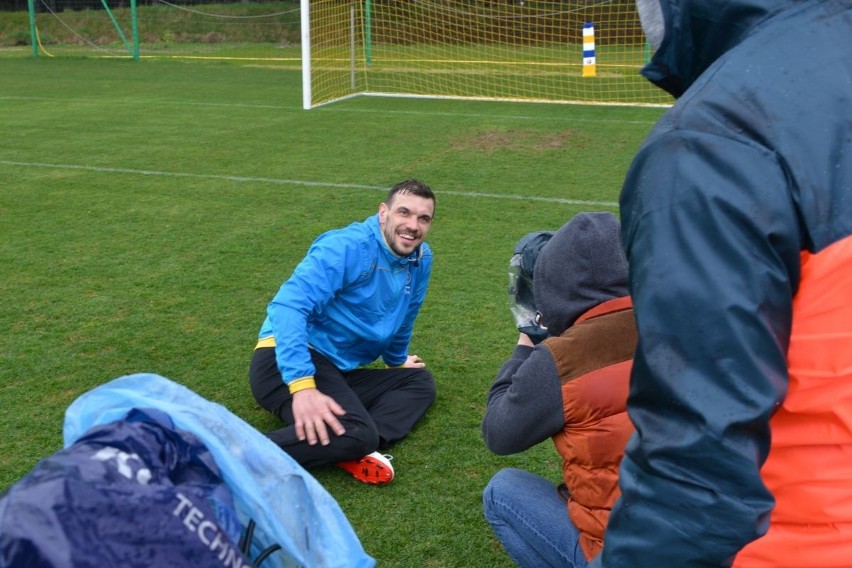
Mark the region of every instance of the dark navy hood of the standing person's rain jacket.
<instances>
[{"instance_id":1,"label":"dark navy hood of the standing person's rain jacket","mask_svg":"<svg viewBox=\"0 0 852 568\"><path fill-rule=\"evenodd\" d=\"M657 12L656 7L647 6L653 3L659 4L664 32L642 74L680 97L751 30L804 0L637 0L640 13ZM650 30L646 33L655 35Z\"/></svg>"}]
</instances>

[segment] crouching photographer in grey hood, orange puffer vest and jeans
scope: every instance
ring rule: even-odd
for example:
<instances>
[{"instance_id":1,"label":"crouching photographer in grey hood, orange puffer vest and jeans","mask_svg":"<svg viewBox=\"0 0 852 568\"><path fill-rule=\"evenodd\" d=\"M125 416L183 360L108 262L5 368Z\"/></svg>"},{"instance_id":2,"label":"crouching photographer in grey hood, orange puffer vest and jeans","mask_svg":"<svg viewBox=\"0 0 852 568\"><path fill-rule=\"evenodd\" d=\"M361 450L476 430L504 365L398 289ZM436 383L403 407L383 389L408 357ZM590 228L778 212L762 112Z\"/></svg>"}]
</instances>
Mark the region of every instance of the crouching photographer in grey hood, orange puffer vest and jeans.
<instances>
[{"instance_id":1,"label":"crouching photographer in grey hood, orange puffer vest and jeans","mask_svg":"<svg viewBox=\"0 0 852 568\"><path fill-rule=\"evenodd\" d=\"M485 517L521 567L584 568L619 494L637 341L619 233L613 214L579 213L522 238L509 263L520 336L488 393L482 434L500 455L551 438L564 479L507 468L485 488Z\"/></svg>"}]
</instances>

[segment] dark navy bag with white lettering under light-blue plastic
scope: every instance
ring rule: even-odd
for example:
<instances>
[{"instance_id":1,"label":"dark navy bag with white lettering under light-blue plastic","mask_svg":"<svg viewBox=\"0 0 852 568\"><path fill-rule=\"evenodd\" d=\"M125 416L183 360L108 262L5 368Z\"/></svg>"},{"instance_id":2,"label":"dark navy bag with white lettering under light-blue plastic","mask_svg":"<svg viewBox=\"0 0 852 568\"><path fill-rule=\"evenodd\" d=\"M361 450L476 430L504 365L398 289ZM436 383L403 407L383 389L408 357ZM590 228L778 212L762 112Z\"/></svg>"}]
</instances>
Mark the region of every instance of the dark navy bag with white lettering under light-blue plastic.
<instances>
[{"instance_id":1,"label":"dark navy bag with white lettering under light-blue plastic","mask_svg":"<svg viewBox=\"0 0 852 568\"><path fill-rule=\"evenodd\" d=\"M156 410L92 428L0 498L0 566L248 566L207 448Z\"/></svg>"}]
</instances>

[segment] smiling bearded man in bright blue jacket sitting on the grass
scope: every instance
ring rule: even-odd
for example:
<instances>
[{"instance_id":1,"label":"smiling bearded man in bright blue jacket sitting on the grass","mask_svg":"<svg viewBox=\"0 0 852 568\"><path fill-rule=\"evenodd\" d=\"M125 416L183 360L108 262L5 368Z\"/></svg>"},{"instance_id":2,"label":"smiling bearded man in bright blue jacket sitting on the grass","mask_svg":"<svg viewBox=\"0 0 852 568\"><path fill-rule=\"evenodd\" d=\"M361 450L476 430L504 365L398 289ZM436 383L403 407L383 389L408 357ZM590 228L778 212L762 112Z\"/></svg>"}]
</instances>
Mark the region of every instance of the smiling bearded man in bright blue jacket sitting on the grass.
<instances>
[{"instance_id":1,"label":"smiling bearded man in bright blue jacket sitting on the grass","mask_svg":"<svg viewBox=\"0 0 852 568\"><path fill-rule=\"evenodd\" d=\"M425 238L435 195L391 188L377 214L320 235L269 303L249 368L258 403L287 425L268 432L304 467L337 464L359 481L393 479L379 450L406 436L435 400L408 352L426 296ZM369 366L381 359L386 368Z\"/></svg>"}]
</instances>

